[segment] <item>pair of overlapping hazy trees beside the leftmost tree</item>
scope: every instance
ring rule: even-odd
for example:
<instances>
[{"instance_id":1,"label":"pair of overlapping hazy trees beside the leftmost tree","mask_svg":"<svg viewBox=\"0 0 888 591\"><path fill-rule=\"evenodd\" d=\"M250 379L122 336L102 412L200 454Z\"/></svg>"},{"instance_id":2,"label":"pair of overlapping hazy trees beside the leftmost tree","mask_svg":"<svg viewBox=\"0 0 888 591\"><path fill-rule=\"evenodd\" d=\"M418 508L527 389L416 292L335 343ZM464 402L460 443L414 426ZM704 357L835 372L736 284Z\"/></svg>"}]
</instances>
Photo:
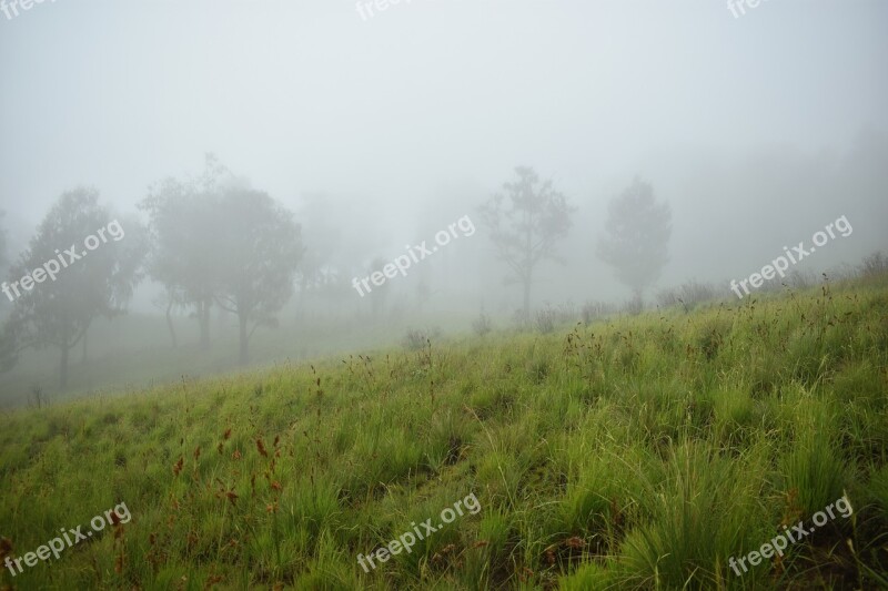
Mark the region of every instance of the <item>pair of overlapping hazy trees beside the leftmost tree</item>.
<instances>
[{"instance_id":1,"label":"pair of overlapping hazy trees beside the leftmost tree","mask_svg":"<svg viewBox=\"0 0 888 591\"><path fill-rule=\"evenodd\" d=\"M167 289L168 313L193 307L204 349L211 306L235 314L240 360L248 363L255 328L274 326L275 314L293 295L303 255L293 214L246 187L211 154L200 179L168 179L140 206L150 217L149 271Z\"/></svg>"}]
</instances>

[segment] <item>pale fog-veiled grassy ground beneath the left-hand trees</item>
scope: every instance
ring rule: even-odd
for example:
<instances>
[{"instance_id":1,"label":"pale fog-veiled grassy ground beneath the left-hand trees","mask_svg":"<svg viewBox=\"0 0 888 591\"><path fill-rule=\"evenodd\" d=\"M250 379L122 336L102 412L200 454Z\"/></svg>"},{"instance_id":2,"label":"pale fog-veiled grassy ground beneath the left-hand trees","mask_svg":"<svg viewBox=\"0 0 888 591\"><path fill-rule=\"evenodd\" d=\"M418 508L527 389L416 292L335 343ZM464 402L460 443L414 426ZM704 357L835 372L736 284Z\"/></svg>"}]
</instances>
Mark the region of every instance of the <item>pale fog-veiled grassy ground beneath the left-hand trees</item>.
<instances>
[{"instance_id":1,"label":"pale fog-veiled grassy ground beneath the left-hand trees","mask_svg":"<svg viewBox=\"0 0 888 591\"><path fill-rule=\"evenodd\" d=\"M201 350L196 320L174 317L179 347L171 347L165 320L159 315L132 313L97 319L90 328L88 355L82 347L71 351L69 387L59 389L58 348L28 349L11 371L0 375L0 408L24 406L32 401L34 388L47 399L62 403L97 393L129 394L181 377L209 377L240 370L236 318L213 317L212 347ZM454 314L420 315L393 308L373 318L357 314L300 315L294 306L281 314L281 326L256 330L250 342L251 368L291 360L314 360L342 351L362 351L371 347L394 346L411 326L465 327L465 319Z\"/></svg>"}]
</instances>

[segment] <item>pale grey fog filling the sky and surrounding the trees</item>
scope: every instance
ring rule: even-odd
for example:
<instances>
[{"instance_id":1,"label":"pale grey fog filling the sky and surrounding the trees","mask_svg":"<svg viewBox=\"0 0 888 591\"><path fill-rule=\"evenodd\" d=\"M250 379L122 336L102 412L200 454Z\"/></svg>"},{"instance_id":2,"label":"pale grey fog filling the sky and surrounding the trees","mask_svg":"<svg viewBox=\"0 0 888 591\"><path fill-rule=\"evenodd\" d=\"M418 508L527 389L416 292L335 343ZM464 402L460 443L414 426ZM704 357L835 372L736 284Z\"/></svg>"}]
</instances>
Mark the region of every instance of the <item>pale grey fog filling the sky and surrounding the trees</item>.
<instances>
[{"instance_id":1,"label":"pale grey fog filling the sky and surrounding the trees","mask_svg":"<svg viewBox=\"0 0 888 591\"><path fill-rule=\"evenodd\" d=\"M81 186L128 231L120 247L149 256L139 204L164 179L199 177L211 153L231 171L228 185L268 193L301 228L293 293L272 315L278 328L251 337L253 366L397 345L411 327L457 338L482 312L514 326L522 286L504 282L480 208L517 166L573 207L556 258L534 268L533 310L633 297L597 245L608 204L636 179L670 210L647 307L689 281L730 298L728 282L845 216L852 233L793 268L840 276L888 248L888 4L730 7L58 0L0 11L8 266ZM381 303L351 285L465 216L474 233L458 226L440 252L387 278ZM226 224L203 226L193 235L218 240ZM236 224L228 228L221 265L240 252ZM309 263L339 287L300 284ZM171 350L162 294L147 273L125 315L97 317L63 389L243 365L238 322L216 300L212 353L198 346L188 306L172 313L188 355L161 353ZM0 315L14 317L19 304L0 299ZM61 390L58 357L23 350L0 374L0 401L22 400L34 384ZM140 370L120 369L131 367Z\"/></svg>"}]
</instances>

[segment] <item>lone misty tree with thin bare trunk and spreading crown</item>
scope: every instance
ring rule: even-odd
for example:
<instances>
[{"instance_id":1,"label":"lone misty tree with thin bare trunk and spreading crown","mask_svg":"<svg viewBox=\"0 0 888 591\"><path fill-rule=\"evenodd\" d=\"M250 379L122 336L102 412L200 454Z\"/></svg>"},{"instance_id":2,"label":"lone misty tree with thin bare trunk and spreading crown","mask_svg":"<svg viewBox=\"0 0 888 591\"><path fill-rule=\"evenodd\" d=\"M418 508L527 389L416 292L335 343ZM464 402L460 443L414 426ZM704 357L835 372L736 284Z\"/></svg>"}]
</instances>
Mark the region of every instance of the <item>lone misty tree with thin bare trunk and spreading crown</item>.
<instances>
[{"instance_id":1,"label":"lone misty tree with thin bare trunk and spreading crown","mask_svg":"<svg viewBox=\"0 0 888 591\"><path fill-rule=\"evenodd\" d=\"M524 287L524 319L531 315L531 284L534 269L544 259L559 261L555 244L571 228L576 211L567 198L553 188L552 181L541 182L529 166L515 169L517 179L503 184L504 193L494 194L482 205L481 220L496 247L496 257L513 275L506 283Z\"/></svg>"}]
</instances>

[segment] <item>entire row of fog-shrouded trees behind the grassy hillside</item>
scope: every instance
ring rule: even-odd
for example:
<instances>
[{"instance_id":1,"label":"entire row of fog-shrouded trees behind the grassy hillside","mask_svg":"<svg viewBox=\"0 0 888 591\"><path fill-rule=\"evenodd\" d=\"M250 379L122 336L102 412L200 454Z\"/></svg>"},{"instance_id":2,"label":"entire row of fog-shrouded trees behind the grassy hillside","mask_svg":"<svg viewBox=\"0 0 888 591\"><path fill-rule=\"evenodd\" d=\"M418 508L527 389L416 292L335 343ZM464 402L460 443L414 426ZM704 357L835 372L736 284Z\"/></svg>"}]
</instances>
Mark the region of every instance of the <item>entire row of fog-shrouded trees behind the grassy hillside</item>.
<instances>
[{"instance_id":1,"label":"entire row of fog-shrouded trees behind the grassy hillside","mask_svg":"<svg viewBox=\"0 0 888 591\"><path fill-rule=\"evenodd\" d=\"M58 249L82 244L108 225L113 216L99 197L91 187L63 193L16 262L10 261L0 227L0 272L8 267L3 275L9 282L20 281ZM296 285L304 296L309 287L322 289L342 281L322 253L306 252L292 212L212 154L199 176L168 177L152 185L139 208L147 225L125 218L125 240L103 245L53 281L32 285L6 303L0 371L11 369L24 349L56 348L64 389L71 349L84 343L95 319L124 314L145 277L163 288L155 304L164 310L173 347L179 345L173 314L185 312L198 320L201 348L209 348L210 314L216 307L238 318L239 357L246 364L251 337L259 327L276 325ZM541 180L528 166L516 167L515 177L480 207L496 257L508 268L505 283L522 287L525 322L535 273L545 259L561 261L556 245L566 237L575 211L553 181ZM650 185L638 179L610 204L608 235L598 255L639 300L667 261L669 217L668 205L657 204ZM381 261L373 258L370 271ZM423 281L417 293L427 298L427 291ZM386 291L377 292L371 300L374 316L386 297Z\"/></svg>"}]
</instances>

